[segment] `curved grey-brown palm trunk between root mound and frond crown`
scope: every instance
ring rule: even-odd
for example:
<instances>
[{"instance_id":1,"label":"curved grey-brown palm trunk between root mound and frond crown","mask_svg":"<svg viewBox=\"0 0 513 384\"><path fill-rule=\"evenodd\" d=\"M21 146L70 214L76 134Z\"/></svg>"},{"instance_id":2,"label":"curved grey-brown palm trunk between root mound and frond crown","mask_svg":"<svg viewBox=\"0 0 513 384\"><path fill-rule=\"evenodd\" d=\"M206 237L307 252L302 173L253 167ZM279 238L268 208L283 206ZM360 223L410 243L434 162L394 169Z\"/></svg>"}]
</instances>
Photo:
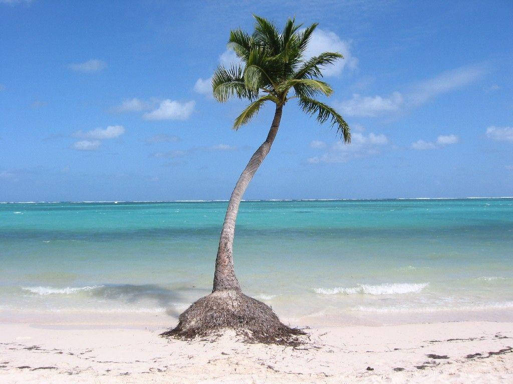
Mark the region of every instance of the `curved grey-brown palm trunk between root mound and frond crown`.
<instances>
[{"instance_id":1,"label":"curved grey-brown palm trunk between root mound and frond crown","mask_svg":"<svg viewBox=\"0 0 513 384\"><path fill-rule=\"evenodd\" d=\"M267 139L262 143L262 145L260 145L253 156L251 156L248 165L244 168L231 194L223 223L223 229L221 230L221 238L219 239L218 255L215 258L214 284L212 292L241 290L239 281L235 276L235 270L233 269L233 236L235 234L235 220L237 218L237 212L239 211L242 196L244 195L249 182L271 149L272 142L274 141L280 126L282 109L283 105L276 107L276 112L274 113L274 119L272 120L271 129L269 130Z\"/></svg>"}]
</instances>

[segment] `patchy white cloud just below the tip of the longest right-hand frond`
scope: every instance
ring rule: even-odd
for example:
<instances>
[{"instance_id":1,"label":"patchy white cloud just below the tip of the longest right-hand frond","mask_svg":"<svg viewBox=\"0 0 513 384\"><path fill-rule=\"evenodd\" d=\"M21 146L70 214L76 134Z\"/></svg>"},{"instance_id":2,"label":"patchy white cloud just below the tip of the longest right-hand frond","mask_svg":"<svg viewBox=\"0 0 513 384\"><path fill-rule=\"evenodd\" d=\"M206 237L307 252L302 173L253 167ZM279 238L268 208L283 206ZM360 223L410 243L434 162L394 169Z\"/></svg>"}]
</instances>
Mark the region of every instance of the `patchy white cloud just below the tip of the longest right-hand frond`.
<instances>
[{"instance_id":1,"label":"patchy white cloud just below the tip of the longest right-hand frond","mask_svg":"<svg viewBox=\"0 0 513 384\"><path fill-rule=\"evenodd\" d=\"M345 163L353 158L363 158L381 153L381 148L389 143L383 134L369 133L364 135L356 132L351 136L351 144L342 141L333 143L322 156L310 157L307 162L317 163Z\"/></svg>"}]
</instances>

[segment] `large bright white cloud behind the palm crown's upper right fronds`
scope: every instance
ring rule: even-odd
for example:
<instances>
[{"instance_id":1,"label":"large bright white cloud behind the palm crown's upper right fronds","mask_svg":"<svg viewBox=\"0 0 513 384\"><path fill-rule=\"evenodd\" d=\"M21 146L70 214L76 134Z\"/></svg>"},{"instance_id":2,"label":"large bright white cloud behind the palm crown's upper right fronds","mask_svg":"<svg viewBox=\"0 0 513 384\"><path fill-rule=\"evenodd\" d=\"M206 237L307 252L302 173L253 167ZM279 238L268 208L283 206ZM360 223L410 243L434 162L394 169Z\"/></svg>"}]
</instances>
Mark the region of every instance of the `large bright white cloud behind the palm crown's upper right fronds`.
<instances>
[{"instance_id":1,"label":"large bright white cloud behind the palm crown's upper right fronds","mask_svg":"<svg viewBox=\"0 0 513 384\"><path fill-rule=\"evenodd\" d=\"M340 75L347 66L354 69L358 65L358 59L351 54L351 42L342 40L336 33L316 29L310 37L310 42L305 52L306 58L317 56L323 52L339 52L344 58L337 60L333 65L326 66L322 72L324 76Z\"/></svg>"}]
</instances>

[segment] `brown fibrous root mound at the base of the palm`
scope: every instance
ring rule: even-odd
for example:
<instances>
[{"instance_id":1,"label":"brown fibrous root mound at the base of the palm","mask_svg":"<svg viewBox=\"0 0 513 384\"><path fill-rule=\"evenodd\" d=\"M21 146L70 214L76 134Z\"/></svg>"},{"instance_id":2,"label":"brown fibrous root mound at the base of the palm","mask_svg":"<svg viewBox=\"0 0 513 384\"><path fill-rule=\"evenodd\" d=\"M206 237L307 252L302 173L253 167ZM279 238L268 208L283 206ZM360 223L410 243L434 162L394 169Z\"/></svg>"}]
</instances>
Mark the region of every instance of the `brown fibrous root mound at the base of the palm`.
<instances>
[{"instance_id":1,"label":"brown fibrous root mound at the base of the palm","mask_svg":"<svg viewBox=\"0 0 513 384\"><path fill-rule=\"evenodd\" d=\"M272 309L236 290L215 291L191 304L179 317L174 329L164 337L192 339L211 336L232 329L244 336L245 342L298 346L304 335L300 329L280 322Z\"/></svg>"}]
</instances>

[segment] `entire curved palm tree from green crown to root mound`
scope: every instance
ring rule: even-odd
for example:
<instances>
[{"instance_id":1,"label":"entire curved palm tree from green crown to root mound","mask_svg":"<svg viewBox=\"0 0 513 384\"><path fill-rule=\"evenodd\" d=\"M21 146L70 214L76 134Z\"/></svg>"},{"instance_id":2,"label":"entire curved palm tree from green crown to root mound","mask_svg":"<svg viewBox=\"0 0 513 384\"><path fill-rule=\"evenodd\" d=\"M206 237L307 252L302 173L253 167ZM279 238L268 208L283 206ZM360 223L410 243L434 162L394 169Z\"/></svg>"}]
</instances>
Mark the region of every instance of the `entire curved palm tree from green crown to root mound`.
<instances>
[{"instance_id":1,"label":"entire curved palm tree from green crown to root mound","mask_svg":"<svg viewBox=\"0 0 513 384\"><path fill-rule=\"evenodd\" d=\"M294 335L301 333L283 325L267 305L241 292L233 268L235 219L249 182L271 149L287 102L297 99L305 113L316 116L319 123L329 121L337 134L350 142L349 126L342 116L315 99L333 92L329 84L320 80L322 68L343 57L337 52L304 57L317 23L300 30L301 25L288 19L279 31L265 18L254 18L251 35L241 29L230 32L229 46L243 65L220 66L212 77L213 95L220 102L232 97L250 101L235 119L234 130L248 123L266 102L275 104L274 118L266 140L251 156L231 194L215 260L212 293L182 313L178 326L165 332L165 336L194 337L215 329L235 328L249 331L246 336L260 342L287 344L297 342Z\"/></svg>"}]
</instances>

